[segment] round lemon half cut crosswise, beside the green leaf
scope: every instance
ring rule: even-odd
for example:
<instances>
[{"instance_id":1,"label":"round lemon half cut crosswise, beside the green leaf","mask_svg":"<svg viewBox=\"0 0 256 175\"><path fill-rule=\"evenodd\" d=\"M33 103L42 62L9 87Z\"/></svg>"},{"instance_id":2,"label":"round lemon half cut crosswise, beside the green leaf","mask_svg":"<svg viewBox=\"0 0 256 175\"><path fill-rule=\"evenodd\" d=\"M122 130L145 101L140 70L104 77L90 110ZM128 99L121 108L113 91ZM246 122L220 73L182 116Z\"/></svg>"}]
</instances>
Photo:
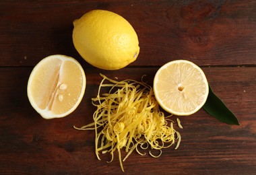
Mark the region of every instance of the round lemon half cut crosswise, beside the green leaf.
<instances>
[{"instance_id":1,"label":"round lemon half cut crosswise, beside the green leaf","mask_svg":"<svg viewBox=\"0 0 256 175\"><path fill-rule=\"evenodd\" d=\"M154 94L160 106L175 115L190 115L199 110L209 93L203 71L191 61L166 63L154 77Z\"/></svg>"}]
</instances>

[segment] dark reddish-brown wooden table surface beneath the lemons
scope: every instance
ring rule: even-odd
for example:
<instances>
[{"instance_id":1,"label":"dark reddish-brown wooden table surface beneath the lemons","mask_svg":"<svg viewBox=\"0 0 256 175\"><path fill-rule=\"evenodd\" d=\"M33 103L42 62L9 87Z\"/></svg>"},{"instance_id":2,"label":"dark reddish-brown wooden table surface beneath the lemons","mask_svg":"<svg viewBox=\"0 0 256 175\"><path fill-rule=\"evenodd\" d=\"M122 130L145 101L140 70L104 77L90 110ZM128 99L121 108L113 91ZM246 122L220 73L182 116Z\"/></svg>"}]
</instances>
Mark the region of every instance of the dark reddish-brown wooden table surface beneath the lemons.
<instances>
[{"instance_id":1,"label":"dark reddish-brown wooden table surface beneath the lemons","mask_svg":"<svg viewBox=\"0 0 256 175\"><path fill-rule=\"evenodd\" d=\"M141 48L134 63L118 71L90 66L75 50L73 20L107 9L135 28ZM126 174L256 173L256 1L0 1L0 174L123 174L118 156L94 153L92 122L101 77L152 85L160 66L175 59L203 69L217 96L238 117L226 125L203 109L179 116L179 149L158 158L133 152ZM65 118L45 120L30 106L28 77L42 58L69 55L86 72L81 104ZM177 116L172 116L176 120Z\"/></svg>"}]
</instances>

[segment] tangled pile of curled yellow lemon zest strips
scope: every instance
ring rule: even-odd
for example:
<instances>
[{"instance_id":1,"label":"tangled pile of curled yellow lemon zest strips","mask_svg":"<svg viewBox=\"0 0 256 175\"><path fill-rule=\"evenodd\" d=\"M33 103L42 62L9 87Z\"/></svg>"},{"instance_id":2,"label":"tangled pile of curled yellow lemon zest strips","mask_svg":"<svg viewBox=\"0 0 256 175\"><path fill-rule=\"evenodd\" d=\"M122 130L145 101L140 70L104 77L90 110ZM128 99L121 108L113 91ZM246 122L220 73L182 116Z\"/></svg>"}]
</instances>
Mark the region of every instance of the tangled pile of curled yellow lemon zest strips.
<instances>
[{"instance_id":1,"label":"tangled pile of curled yellow lemon zest strips","mask_svg":"<svg viewBox=\"0 0 256 175\"><path fill-rule=\"evenodd\" d=\"M100 152L110 152L113 161L114 152L117 150L121 169L123 169L121 149L124 148L127 157L136 149L140 155L140 149L158 149L160 153L152 157L159 157L162 148L174 145L177 141L179 147L181 135L173 128L173 121L160 112L158 102L154 97L154 91L150 85L127 79L115 81L102 75L102 81L96 98L92 98L92 104L97 107L94 112L94 122L79 130L95 131L95 152L100 160ZM144 76L144 75L143 75ZM104 83L104 81L109 81ZM100 96L102 88L110 88L107 93ZM100 130L101 129L101 130Z\"/></svg>"}]
</instances>

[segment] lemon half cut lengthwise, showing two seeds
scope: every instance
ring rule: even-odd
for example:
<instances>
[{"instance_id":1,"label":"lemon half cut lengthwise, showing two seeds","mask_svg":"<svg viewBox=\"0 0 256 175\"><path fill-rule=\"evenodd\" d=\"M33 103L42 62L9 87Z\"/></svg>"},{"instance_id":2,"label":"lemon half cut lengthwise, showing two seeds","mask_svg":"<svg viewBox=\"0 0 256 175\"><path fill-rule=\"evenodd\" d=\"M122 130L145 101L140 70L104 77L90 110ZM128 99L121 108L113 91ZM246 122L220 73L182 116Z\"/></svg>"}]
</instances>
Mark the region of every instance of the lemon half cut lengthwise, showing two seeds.
<instances>
[{"instance_id":1,"label":"lemon half cut lengthwise, showing two seeds","mask_svg":"<svg viewBox=\"0 0 256 175\"><path fill-rule=\"evenodd\" d=\"M81 102L86 90L82 66L65 55L42 59L28 79L28 99L46 119L67 116Z\"/></svg>"}]
</instances>

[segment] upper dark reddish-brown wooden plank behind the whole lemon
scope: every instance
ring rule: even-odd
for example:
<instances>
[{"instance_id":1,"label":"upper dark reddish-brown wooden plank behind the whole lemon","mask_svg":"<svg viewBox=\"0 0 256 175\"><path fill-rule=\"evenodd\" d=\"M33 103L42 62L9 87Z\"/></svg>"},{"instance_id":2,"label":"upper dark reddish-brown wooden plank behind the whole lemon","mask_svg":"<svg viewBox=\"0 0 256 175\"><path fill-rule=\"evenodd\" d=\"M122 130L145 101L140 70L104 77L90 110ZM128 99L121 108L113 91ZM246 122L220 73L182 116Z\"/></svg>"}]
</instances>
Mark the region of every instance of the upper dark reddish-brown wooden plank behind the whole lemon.
<instances>
[{"instance_id":1,"label":"upper dark reddish-brown wooden plank behind the whole lemon","mask_svg":"<svg viewBox=\"0 0 256 175\"><path fill-rule=\"evenodd\" d=\"M107 9L135 28L141 48L132 66L189 59L197 65L256 65L256 1L0 1L0 66L34 66L78 55L73 20ZM90 67L84 62L86 67Z\"/></svg>"}]
</instances>

